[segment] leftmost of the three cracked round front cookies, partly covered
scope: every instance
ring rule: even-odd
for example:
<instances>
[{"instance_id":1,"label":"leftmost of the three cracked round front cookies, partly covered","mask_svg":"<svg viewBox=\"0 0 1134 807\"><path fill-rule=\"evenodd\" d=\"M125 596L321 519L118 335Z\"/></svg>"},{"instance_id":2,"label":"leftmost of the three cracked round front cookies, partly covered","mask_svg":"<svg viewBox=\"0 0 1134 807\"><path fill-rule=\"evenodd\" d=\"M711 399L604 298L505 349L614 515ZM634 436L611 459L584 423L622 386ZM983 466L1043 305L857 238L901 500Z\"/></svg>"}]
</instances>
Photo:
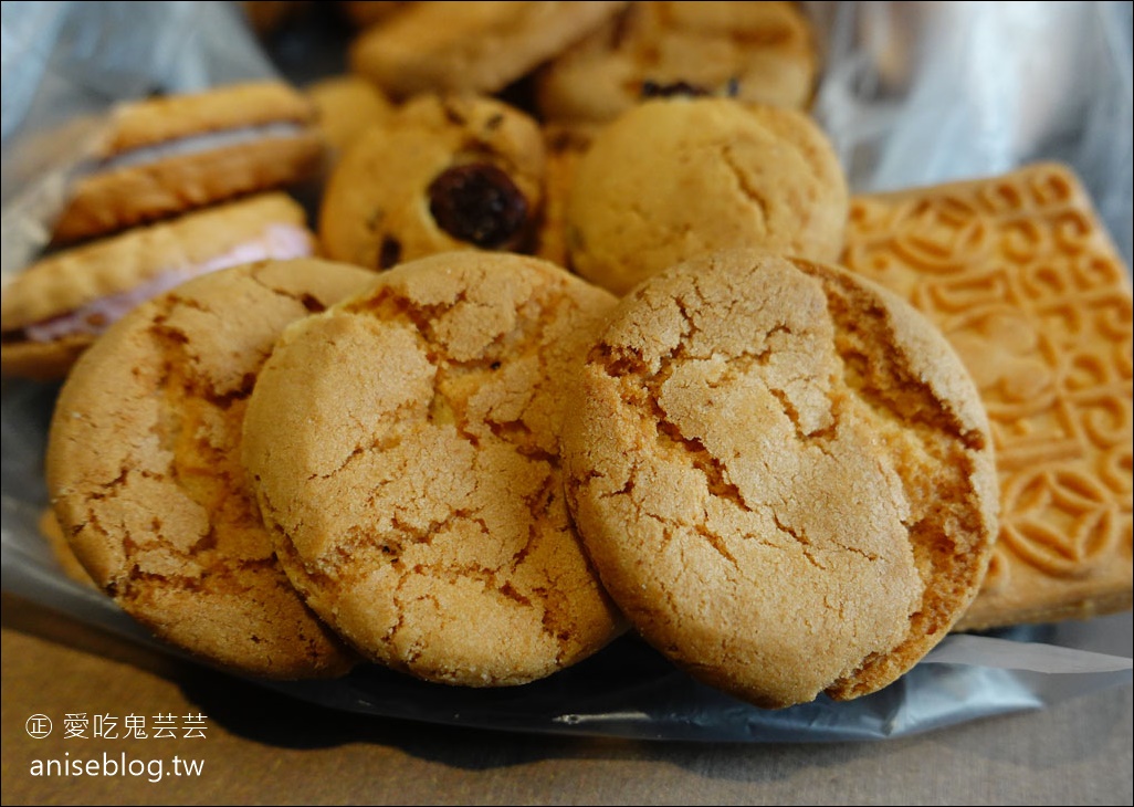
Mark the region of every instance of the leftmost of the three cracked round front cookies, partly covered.
<instances>
[{"instance_id":1,"label":"leftmost of the three cracked round front cookies, partly covered","mask_svg":"<svg viewBox=\"0 0 1134 807\"><path fill-rule=\"evenodd\" d=\"M276 561L239 450L280 331L371 282L316 260L213 272L135 308L65 382L48 436L51 507L92 579L159 638L264 678L355 663Z\"/></svg>"}]
</instances>

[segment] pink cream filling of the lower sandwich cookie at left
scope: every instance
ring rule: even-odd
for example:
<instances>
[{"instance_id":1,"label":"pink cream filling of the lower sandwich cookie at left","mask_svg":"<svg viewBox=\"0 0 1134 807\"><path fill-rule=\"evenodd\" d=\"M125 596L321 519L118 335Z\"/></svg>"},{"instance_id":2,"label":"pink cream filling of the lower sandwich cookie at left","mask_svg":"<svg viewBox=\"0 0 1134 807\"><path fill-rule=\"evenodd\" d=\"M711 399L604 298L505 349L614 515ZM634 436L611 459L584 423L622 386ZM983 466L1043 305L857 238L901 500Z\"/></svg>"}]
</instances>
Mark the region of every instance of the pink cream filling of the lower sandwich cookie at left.
<instances>
[{"instance_id":1,"label":"pink cream filling of the lower sandwich cookie at left","mask_svg":"<svg viewBox=\"0 0 1134 807\"><path fill-rule=\"evenodd\" d=\"M311 235L304 228L294 224L269 224L255 240L240 244L203 263L168 269L127 291L100 297L68 314L26 325L24 334L33 342L51 342L78 334L98 335L138 304L191 278L242 263L308 257L313 252Z\"/></svg>"}]
</instances>

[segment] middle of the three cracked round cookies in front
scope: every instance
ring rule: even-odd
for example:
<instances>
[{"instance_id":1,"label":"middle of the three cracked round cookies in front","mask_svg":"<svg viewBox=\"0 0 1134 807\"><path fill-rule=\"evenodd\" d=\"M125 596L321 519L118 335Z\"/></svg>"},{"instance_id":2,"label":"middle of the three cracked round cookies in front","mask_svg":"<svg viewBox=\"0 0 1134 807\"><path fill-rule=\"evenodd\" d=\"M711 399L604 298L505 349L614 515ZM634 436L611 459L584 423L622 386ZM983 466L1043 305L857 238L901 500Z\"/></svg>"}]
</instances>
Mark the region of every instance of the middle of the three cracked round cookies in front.
<instances>
[{"instance_id":1,"label":"middle of the three cracked round cookies in front","mask_svg":"<svg viewBox=\"0 0 1134 807\"><path fill-rule=\"evenodd\" d=\"M287 329L244 465L293 584L367 659L510 686L624 628L564 501L564 393L611 295L534 257L401 264Z\"/></svg>"}]
</instances>

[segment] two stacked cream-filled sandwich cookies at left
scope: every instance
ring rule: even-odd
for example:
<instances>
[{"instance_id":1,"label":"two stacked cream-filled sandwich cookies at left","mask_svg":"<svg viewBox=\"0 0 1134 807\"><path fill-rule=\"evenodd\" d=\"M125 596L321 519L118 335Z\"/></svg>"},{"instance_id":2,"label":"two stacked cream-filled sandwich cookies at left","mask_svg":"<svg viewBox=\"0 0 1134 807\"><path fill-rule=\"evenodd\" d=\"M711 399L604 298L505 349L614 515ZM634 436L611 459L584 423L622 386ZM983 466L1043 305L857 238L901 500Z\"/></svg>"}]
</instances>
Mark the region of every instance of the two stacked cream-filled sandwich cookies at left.
<instances>
[{"instance_id":1,"label":"two stacked cream-filled sandwich cookies at left","mask_svg":"<svg viewBox=\"0 0 1134 807\"><path fill-rule=\"evenodd\" d=\"M46 222L48 254L5 287L5 374L64 377L124 312L187 278L312 255L285 190L325 152L315 107L279 80L117 107Z\"/></svg>"}]
</instances>

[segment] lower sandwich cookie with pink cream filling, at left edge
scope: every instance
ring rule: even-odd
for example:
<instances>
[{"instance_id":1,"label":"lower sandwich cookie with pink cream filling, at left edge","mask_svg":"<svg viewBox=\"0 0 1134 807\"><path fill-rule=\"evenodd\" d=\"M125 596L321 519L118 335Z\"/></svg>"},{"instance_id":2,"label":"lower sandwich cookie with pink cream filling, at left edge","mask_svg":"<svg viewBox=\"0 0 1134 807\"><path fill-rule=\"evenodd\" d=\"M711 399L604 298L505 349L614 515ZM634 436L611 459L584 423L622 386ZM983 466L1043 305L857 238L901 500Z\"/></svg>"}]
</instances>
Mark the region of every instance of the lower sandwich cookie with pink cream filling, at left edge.
<instances>
[{"instance_id":1,"label":"lower sandwich cookie with pink cream filling, at left edge","mask_svg":"<svg viewBox=\"0 0 1134 807\"><path fill-rule=\"evenodd\" d=\"M277 192L53 253L3 290L3 374L60 379L138 303L197 274L314 249L303 209Z\"/></svg>"}]
</instances>

